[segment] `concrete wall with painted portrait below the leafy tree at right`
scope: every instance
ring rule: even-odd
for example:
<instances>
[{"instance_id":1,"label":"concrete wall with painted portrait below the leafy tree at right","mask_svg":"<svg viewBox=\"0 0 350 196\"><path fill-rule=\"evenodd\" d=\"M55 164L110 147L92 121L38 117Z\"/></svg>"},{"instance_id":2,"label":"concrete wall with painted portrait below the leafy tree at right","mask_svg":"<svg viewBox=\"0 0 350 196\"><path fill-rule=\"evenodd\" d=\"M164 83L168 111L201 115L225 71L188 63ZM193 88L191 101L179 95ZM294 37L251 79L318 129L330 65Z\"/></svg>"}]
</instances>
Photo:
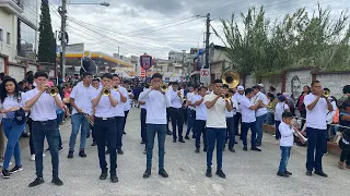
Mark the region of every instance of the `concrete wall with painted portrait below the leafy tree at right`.
<instances>
[{"instance_id":1,"label":"concrete wall with painted portrait below the leafy tree at right","mask_svg":"<svg viewBox=\"0 0 350 196\"><path fill-rule=\"evenodd\" d=\"M326 73L312 71L311 69L287 71L285 77L280 74L268 78L262 78L262 84L266 91L270 86L273 86L277 93L282 93L282 89L284 87L284 91L291 93L292 98L298 99L298 97L303 91L303 87L306 85L311 86L313 76L314 79L317 79L322 83L323 87L329 88L330 94L337 98L342 95L342 87L350 84L349 72ZM283 82L285 82L285 84L283 84ZM245 87L252 87L256 84L257 82L254 75L245 76Z\"/></svg>"}]
</instances>

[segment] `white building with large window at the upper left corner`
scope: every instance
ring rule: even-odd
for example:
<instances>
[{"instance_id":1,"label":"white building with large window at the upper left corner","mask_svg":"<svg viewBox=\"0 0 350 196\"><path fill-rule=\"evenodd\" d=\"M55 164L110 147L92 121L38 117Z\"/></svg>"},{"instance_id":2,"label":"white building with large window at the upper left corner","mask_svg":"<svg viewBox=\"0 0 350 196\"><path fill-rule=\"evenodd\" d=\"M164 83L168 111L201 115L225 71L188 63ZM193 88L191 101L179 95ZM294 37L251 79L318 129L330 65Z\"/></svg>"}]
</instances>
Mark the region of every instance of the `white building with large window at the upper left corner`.
<instances>
[{"instance_id":1,"label":"white building with large window at the upper left corner","mask_svg":"<svg viewBox=\"0 0 350 196\"><path fill-rule=\"evenodd\" d=\"M0 72L18 81L37 71L39 0L0 0Z\"/></svg>"}]
</instances>

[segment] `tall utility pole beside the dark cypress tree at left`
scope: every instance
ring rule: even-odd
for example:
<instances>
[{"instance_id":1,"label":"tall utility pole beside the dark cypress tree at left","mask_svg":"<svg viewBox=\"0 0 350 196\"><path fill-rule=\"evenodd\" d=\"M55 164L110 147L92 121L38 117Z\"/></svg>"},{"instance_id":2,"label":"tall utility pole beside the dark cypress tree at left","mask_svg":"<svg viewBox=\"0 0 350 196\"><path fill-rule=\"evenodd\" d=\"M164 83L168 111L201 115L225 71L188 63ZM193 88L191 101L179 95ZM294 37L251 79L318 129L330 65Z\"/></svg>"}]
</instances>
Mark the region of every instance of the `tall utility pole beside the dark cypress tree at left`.
<instances>
[{"instance_id":1,"label":"tall utility pole beside the dark cypress tree at left","mask_svg":"<svg viewBox=\"0 0 350 196\"><path fill-rule=\"evenodd\" d=\"M67 20L67 0L62 0L62 5L60 7L59 10L61 14L61 48L62 52L60 54L61 59L61 64L60 64L60 73L61 73L61 79L65 81L65 75L66 75L66 20Z\"/></svg>"}]
</instances>

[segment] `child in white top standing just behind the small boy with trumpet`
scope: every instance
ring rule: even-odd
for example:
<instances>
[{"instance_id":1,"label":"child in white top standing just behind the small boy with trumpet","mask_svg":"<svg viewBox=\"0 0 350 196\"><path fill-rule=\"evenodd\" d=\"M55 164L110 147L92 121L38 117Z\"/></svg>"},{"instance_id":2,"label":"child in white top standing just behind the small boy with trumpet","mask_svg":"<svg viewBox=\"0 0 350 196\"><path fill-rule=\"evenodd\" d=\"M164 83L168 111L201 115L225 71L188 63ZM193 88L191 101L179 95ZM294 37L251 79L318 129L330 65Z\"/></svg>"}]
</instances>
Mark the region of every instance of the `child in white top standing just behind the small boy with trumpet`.
<instances>
[{"instance_id":1,"label":"child in white top standing just behind the small boy with trumpet","mask_svg":"<svg viewBox=\"0 0 350 196\"><path fill-rule=\"evenodd\" d=\"M288 105L285 103L285 97L280 95L278 97L278 103L275 107L275 128L276 128L276 144L279 144L281 134L279 132L279 125L282 121L282 113L290 112Z\"/></svg>"}]
</instances>

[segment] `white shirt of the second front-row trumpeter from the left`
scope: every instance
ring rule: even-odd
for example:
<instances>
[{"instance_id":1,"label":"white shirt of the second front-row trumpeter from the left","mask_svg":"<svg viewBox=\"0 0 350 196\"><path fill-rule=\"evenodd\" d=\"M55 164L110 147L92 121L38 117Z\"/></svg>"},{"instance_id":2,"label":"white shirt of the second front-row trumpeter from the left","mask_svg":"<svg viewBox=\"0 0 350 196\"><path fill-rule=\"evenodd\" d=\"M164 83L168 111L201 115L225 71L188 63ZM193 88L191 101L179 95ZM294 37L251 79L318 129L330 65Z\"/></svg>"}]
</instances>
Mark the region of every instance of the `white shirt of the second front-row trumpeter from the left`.
<instances>
[{"instance_id":1,"label":"white shirt of the second front-row trumpeter from the left","mask_svg":"<svg viewBox=\"0 0 350 196\"><path fill-rule=\"evenodd\" d=\"M93 99L96 99L100 95L100 91L101 90L96 90L94 96L93 96ZM113 96L114 99L118 100L118 105L120 103L120 94L110 89L110 94ZM102 95L101 96L101 99L95 108L95 117L96 118L113 118L113 117L116 117L116 108L117 107L113 107L110 105L110 101L109 101L109 97L108 96L104 96ZM122 112L124 114L124 112Z\"/></svg>"}]
</instances>

